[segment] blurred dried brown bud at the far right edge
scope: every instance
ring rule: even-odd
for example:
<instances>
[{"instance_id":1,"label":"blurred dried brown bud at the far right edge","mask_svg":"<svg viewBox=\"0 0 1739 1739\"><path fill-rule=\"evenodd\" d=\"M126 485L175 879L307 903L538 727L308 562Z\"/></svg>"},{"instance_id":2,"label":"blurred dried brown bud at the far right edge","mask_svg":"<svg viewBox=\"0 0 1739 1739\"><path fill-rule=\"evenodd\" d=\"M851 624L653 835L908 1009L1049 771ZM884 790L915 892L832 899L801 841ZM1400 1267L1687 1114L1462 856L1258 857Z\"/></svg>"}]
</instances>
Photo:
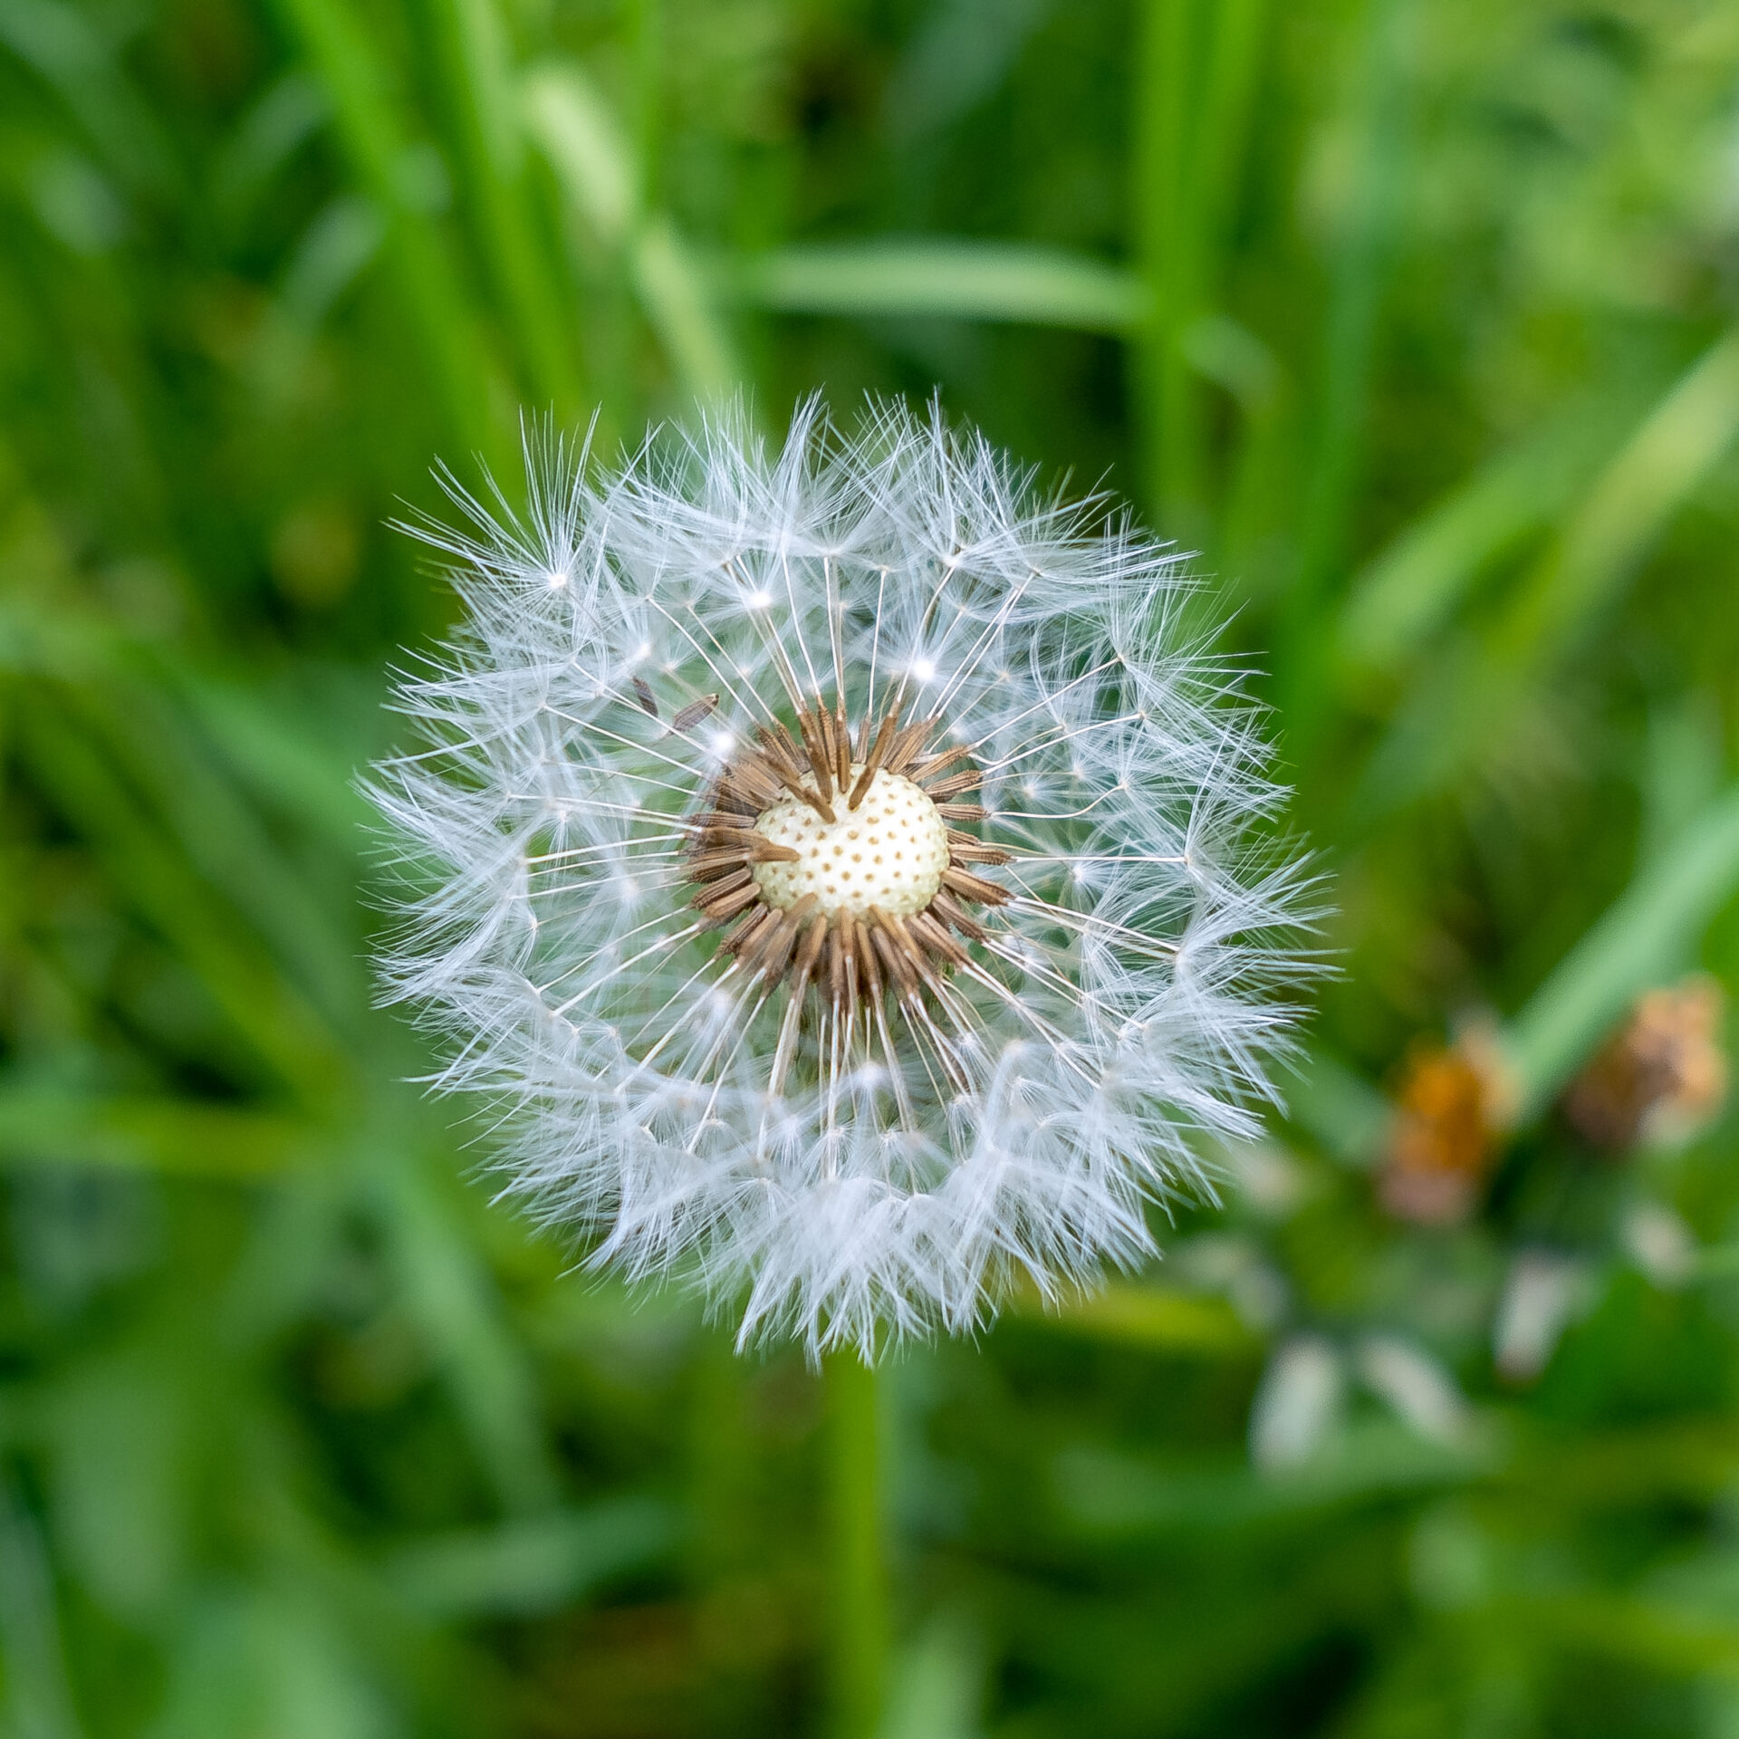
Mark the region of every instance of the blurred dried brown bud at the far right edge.
<instances>
[{"instance_id":1,"label":"blurred dried brown bud at the far right edge","mask_svg":"<svg viewBox=\"0 0 1739 1739\"><path fill-rule=\"evenodd\" d=\"M1607 1153L1683 1141L1701 1129L1727 1097L1723 1002L1720 984L1702 974L1643 991L1570 1082L1570 1127Z\"/></svg>"}]
</instances>

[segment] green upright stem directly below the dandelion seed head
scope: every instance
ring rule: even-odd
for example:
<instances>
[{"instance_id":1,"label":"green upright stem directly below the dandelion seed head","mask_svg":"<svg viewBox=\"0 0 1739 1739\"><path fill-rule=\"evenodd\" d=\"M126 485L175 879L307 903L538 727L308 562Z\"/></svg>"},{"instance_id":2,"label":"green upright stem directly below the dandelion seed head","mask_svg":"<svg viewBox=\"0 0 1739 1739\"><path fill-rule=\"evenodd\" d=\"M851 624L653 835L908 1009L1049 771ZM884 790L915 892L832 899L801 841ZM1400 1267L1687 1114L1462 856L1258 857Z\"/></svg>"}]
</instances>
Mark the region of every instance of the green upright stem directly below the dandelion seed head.
<instances>
[{"instance_id":1,"label":"green upright stem directly below the dandelion seed head","mask_svg":"<svg viewBox=\"0 0 1739 1739\"><path fill-rule=\"evenodd\" d=\"M830 1730L835 1739L873 1739L889 1633L878 1386L875 1370L852 1351L828 1356L826 1386Z\"/></svg>"}]
</instances>

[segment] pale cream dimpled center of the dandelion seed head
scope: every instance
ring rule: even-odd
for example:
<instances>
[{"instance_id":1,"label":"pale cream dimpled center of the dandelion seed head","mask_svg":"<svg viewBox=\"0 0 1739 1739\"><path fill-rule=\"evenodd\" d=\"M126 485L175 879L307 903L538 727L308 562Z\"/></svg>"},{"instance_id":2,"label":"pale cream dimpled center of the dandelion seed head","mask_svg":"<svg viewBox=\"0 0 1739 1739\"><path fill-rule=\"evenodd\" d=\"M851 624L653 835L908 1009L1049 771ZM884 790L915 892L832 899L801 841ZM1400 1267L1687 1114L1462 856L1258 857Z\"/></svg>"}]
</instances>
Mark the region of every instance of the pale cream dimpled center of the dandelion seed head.
<instances>
[{"instance_id":1,"label":"pale cream dimpled center of the dandelion seed head","mask_svg":"<svg viewBox=\"0 0 1739 1739\"><path fill-rule=\"evenodd\" d=\"M852 767L852 783L863 772ZM948 868L948 823L911 779L878 770L856 809L843 795L835 821L823 821L800 798L755 817L755 831L796 852L795 863L755 864L762 899L790 911L805 894L835 918L864 918L875 906L890 916L923 911Z\"/></svg>"}]
</instances>

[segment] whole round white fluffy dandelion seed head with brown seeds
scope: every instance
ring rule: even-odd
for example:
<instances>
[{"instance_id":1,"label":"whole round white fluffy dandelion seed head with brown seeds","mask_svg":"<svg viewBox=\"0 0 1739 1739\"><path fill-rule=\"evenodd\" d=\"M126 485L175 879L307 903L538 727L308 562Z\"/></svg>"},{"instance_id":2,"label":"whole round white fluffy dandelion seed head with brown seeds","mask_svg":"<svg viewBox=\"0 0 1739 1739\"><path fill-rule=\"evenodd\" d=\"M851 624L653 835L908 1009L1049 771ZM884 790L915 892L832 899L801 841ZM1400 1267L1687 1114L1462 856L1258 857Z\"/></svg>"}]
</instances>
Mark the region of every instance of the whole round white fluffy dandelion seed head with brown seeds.
<instances>
[{"instance_id":1,"label":"whole round white fluffy dandelion seed head with brown seeds","mask_svg":"<svg viewBox=\"0 0 1739 1739\"><path fill-rule=\"evenodd\" d=\"M970 1329L1254 1132L1309 889L1177 558L939 414L741 412L416 527L390 993L506 1189L743 1344Z\"/></svg>"}]
</instances>

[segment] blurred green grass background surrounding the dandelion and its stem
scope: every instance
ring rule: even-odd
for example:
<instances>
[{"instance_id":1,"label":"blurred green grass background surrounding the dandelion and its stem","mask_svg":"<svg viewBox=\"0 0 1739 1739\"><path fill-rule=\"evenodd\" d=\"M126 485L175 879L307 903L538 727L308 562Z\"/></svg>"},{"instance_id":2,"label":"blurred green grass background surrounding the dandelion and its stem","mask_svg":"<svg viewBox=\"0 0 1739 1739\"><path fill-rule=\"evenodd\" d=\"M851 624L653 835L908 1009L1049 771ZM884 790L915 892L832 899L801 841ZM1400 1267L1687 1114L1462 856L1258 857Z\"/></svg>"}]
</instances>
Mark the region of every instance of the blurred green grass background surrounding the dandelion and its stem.
<instances>
[{"instance_id":1,"label":"blurred green grass background surrounding the dandelion and its stem","mask_svg":"<svg viewBox=\"0 0 1739 1739\"><path fill-rule=\"evenodd\" d=\"M1736 320L1734 0L0 0L0 1732L826 1730L823 1386L490 1205L351 791L433 457L741 384L1200 551L1339 906L882 1379L882 1734L1736 1739Z\"/></svg>"}]
</instances>

